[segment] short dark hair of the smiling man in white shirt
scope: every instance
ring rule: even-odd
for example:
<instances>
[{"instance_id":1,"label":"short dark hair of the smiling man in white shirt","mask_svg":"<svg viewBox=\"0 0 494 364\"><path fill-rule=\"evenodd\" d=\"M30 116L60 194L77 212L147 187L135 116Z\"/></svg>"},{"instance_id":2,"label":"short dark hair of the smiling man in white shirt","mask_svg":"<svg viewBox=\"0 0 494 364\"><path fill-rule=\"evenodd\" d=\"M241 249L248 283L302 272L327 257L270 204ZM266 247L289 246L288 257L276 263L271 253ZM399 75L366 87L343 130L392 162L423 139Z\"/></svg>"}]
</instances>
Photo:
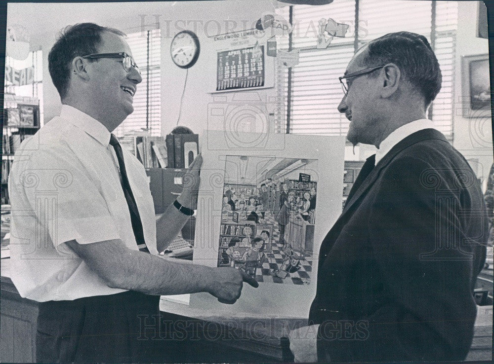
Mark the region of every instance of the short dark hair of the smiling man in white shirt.
<instances>
[{"instance_id":1,"label":"short dark hair of the smiling man in white shirt","mask_svg":"<svg viewBox=\"0 0 494 364\"><path fill-rule=\"evenodd\" d=\"M48 53L48 70L51 80L63 100L69 89L72 60L97 52L103 32L125 36L114 28L102 27L94 23L80 23L64 28Z\"/></svg>"}]
</instances>

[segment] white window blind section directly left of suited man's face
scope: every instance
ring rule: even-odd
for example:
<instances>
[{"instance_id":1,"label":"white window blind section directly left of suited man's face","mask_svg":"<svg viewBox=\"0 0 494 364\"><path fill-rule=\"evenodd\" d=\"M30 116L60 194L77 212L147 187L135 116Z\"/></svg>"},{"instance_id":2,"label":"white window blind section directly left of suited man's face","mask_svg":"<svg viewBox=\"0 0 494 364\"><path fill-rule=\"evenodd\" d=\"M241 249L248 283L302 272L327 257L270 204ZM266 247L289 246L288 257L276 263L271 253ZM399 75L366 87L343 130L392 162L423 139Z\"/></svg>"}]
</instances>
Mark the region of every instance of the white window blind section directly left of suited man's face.
<instances>
[{"instance_id":1,"label":"white window blind section directly left of suited man's face","mask_svg":"<svg viewBox=\"0 0 494 364\"><path fill-rule=\"evenodd\" d=\"M288 7L283 8L286 19L288 11ZM343 97L338 77L343 75L354 54L355 0L321 6L293 6L292 48L315 48L321 18L332 18L350 27L346 37L334 37L329 48L300 53L299 64L291 70L289 132L346 135L349 121L336 109ZM287 49L288 39L280 46ZM287 78L288 72L285 71L284 87L288 85ZM286 123L279 129L286 131Z\"/></svg>"}]
</instances>

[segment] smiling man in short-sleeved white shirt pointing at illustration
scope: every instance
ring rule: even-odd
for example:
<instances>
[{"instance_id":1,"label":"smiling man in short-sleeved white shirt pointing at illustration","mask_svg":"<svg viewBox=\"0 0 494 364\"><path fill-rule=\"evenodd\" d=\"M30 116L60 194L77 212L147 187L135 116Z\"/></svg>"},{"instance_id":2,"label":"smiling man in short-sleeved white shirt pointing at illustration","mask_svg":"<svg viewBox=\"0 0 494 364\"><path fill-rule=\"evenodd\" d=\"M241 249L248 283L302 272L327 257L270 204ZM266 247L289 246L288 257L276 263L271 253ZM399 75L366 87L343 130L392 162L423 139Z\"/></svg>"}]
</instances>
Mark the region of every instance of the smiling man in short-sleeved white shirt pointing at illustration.
<instances>
[{"instance_id":1,"label":"smiling man in short-sleeved white shirt pointing at illustration","mask_svg":"<svg viewBox=\"0 0 494 364\"><path fill-rule=\"evenodd\" d=\"M65 29L49 71L62 109L16 152L9 176L11 277L40 303L37 361L145 362L139 317L159 314L159 295L206 291L234 303L234 268L159 256L197 201L201 156L158 221L145 170L111 132L133 111L142 77L118 30Z\"/></svg>"}]
</instances>

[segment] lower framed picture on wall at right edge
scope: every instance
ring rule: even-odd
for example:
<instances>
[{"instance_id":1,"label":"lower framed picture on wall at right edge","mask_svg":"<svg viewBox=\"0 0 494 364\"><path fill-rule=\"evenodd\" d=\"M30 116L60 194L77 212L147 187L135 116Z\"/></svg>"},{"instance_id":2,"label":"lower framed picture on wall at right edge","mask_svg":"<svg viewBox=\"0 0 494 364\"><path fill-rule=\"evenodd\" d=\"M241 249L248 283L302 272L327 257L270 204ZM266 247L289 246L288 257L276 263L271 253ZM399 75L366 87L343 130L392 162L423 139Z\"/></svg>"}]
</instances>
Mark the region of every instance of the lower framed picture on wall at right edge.
<instances>
[{"instance_id":1,"label":"lower framed picture on wall at right edge","mask_svg":"<svg viewBox=\"0 0 494 364\"><path fill-rule=\"evenodd\" d=\"M491 86L489 55L463 56L461 90L464 117L490 117Z\"/></svg>"}]
</instances>

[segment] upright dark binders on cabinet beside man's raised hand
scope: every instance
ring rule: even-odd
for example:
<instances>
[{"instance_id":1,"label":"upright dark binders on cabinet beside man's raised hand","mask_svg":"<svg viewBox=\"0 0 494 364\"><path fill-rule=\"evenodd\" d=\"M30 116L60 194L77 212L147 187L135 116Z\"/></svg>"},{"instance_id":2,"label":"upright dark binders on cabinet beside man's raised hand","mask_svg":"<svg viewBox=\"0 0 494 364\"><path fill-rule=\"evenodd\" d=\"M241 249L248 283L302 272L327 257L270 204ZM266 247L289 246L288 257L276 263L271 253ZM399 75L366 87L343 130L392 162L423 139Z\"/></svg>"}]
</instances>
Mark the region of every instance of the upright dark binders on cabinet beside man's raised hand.
<instances>
[{"instance_id":1,"label":"upright dark binders on cabinet beside man's raised hand","mask_svg":"<svg viewBox=\"0 0 494 364\"><path fill-rule=\"evenodd\" d=\"M168 134L166 151L169 168L188 168L199 153L199 135Z\"/></svg>"}]
</instances>

